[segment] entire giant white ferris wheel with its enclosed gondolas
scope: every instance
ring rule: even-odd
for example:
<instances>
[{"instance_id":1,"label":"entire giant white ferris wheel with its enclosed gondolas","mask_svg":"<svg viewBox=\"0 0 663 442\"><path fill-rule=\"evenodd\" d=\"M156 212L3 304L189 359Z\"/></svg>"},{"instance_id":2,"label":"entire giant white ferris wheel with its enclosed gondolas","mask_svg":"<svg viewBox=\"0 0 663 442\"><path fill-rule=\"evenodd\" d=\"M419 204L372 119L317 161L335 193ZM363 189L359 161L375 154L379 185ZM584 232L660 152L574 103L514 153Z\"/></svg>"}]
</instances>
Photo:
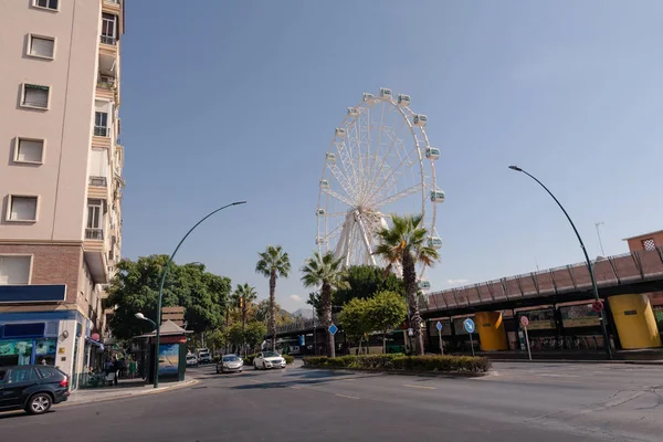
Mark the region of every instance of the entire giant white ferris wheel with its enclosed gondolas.
<instances>
[{"instance_id":1,"label":"entire giant white ferris wheel with its enclosed gondolas","mask_svg":"<svg viewBox=\"0 0 663 442\"><path fill-rule=\"evenodd\" d=\"M429 245L439 249L436 204L444 192L435 182L440 149L431 147L425 115L410 109L410 96L381 88L348 107L325 156L316 209L318 251L333 251L344 264L385 266L372 254L376 233L391 213L423 214ZM400 269L396 269L400 272ZM419 286L430 288L418 264Z\"/></svg>"}]
</instances>

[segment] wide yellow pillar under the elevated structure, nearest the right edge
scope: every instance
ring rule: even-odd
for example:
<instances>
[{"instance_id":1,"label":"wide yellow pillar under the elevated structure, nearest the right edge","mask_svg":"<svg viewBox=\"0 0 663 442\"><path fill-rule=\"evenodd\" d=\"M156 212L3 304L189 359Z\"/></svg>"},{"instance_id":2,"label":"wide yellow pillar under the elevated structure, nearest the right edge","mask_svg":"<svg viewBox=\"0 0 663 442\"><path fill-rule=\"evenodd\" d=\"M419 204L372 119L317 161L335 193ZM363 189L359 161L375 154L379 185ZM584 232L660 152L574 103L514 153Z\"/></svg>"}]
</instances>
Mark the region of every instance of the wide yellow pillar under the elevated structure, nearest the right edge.
<instances>
[{"instance_id":1,"label":"wide yellow pillar under the elevated structure, nearest the right edge","mask_svg":"<svg viewBox=\"0 0 663 442\"><path fill-rule=\"evenodd\" d=\"M654 312L645 294L611 296L609 299L623 349L662 346Z\"/></svg>"}]
</instances>

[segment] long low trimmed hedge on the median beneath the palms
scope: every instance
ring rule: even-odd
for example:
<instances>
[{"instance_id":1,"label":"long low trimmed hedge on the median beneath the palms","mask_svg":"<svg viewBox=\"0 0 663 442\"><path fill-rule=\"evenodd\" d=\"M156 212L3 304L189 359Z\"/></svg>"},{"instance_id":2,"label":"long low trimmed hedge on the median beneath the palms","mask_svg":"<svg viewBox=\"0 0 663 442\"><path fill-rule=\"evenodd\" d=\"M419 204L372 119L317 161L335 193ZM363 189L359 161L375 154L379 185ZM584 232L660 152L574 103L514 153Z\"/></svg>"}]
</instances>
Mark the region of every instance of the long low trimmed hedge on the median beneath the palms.
<instances>
[{"instance_id":1,"label":"long low trimmed hedge on the median beneath the palms","mask_svg":"<svg viewBox=\"0 0 663 442\"><path fill-rule=\"evenodd\" d=\"M304 367L355 368L382 371L486 372L491 360L473 356L359 355L305 357Z\"/></svg>"}]
</instances>

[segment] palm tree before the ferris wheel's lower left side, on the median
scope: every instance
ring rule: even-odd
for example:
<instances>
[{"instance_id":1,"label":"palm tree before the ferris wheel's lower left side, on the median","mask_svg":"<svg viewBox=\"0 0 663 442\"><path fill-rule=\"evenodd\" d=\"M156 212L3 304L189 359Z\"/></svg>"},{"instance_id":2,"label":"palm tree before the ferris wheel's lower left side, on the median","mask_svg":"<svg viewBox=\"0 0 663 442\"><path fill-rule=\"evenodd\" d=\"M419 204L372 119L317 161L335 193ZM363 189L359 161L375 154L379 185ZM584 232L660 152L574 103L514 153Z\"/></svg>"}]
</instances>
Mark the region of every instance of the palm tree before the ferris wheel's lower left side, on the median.
<instances>
[{"instance_id":1,"label":"palm tree before the ferris wheel's lower left side, on the median","mask_svg":"<svg viewBox=\"0 0 663 442\"><path fill-rule=\"evenodd\" d=\"M302 267L302 283L305 287L320 287L323 298L323 322L327 328L328 354L333 358L336 356L336 346L334 335L328 330L332 325L332 291L348 288L349 284L345 278L343 269L343 257L335 257L333 252L323 255L315 252L313 257L306 260Z\"/></svg>"}]
</instances>

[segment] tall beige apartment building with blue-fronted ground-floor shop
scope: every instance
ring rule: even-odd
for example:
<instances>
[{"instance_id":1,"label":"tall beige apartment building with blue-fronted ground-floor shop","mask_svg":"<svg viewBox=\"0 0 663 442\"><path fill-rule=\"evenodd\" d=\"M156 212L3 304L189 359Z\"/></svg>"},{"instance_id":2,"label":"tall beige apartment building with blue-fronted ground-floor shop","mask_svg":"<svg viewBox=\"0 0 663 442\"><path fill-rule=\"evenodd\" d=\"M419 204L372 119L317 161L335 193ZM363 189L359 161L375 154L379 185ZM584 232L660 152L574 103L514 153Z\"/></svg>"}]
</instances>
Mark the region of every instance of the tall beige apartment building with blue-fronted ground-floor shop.
<instances>
[{"instance_id":1,"label":"tall beige apartment building with blue-fronted ground-floor shop","mask_svg":"<svg viewBox=\"0 0 663 442\"><path fill-rule=\"evenodd\" d=\"M0 365L76 375L103 348L120 257L124 4L0 8Z\"/></svg>"}]
</instances>

